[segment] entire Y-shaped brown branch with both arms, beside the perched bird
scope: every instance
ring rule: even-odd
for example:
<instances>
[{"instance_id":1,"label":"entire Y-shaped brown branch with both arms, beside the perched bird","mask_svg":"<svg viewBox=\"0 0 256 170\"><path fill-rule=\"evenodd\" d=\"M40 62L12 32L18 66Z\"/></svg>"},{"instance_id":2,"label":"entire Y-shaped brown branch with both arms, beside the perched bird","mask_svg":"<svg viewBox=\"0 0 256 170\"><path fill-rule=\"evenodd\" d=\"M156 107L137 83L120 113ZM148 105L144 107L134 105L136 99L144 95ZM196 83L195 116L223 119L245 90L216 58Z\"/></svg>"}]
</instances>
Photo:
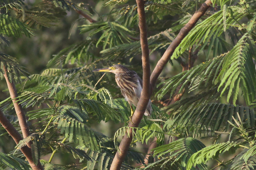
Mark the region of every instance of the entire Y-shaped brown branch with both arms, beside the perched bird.
<instances>
[{"instance_id":1,"label":"entire Y-shaped brown branch with both arms, beside the perched bird","mask_svg":"<svg viewBox=\"0 0 256 170\"><path fill-rule=\"evenodd\" d=\"M152 88L154 88L156 80L160 73L162 72L165 64L170 59L175 48L180 44L181 40L188 34L188 32L193 28L199 18L204 15L206 10L210 7L211 1L206 0L202 4L201 8L196 11L196 13L191 17L188 23L180 30L178 36L172 41L170 46L165 51L162 58L158 61L153 73L150 75L150 65L149 65L149 50L148 50L148 41L147 41L147 29L146 29L146 14L144 11L144 1L136 0L138 6L138 16L139 16L139 27L140 27L140 45L142 50L142 68L143 68L143 88L140 96L139 103L132 117L132 123L129 123L129 127L138 127L140 121L143 117L143 114L146 110L149 97L152 93ZM149 81L150 79L150 81ZM150 83L150 84L149 84ZM149 86L151 85L151 86ZM151 87L151 89L150 89ZM129 133L129 135L127 135ZM128 137L130 136L130 137ZM120 152L116 152L115 158L111 164L110 170L119 170L124 161L126 153L129 149L129 146L132 142L132 129L127 130L127 133L124 135L119 149Z\"/></svg>"}]
</instances>

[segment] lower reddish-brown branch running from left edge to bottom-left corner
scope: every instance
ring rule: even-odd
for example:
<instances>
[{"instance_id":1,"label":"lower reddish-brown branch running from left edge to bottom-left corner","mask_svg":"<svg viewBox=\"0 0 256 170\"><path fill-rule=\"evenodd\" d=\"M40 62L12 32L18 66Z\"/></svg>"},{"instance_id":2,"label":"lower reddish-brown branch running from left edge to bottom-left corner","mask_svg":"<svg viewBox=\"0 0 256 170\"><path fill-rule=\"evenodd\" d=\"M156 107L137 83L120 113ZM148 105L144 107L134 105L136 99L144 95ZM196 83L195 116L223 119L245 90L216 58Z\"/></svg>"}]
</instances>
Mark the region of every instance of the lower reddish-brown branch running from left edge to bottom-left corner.
<instances>
[{"instance_id":1,"label":"lower reddish-brown branch running from left edge to bottom-left corner","mask_svg":"<svg viewBox=\"0 0 256 170\"><path fill-rule=\"evenodd\" d=\"M0 123L4 127L4 129L9 133L9 135L13 138L16 144L19 143L23 138L20 136L20 133L15 129L15 127L11 124L11 122L4 116L4 113L0 109ZM38 161L36 165L33 162L31 149L28 146L24 146L20 148L20 151L24 154L24 156L28 159L28 163L33 170L43 170L43 166Z\"/></svg>"}]
</instances>

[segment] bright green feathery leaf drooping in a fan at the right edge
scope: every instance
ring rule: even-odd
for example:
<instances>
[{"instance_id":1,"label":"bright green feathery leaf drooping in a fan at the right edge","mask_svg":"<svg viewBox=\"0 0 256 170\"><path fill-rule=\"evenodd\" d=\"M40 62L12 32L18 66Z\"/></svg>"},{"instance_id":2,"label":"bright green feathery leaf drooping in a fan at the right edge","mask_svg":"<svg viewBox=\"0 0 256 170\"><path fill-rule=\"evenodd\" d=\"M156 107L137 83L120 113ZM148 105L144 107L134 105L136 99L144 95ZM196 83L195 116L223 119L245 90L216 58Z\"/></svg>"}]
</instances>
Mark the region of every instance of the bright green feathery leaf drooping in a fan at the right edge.
<instances>
[{"instance_id":1,"label":"bright green feathery leaf drooping in a fan at the right edge","mask_svg":"<svg viewBox=\"0 0 256 170\"><path fill-rule=\"evenodd\" d=\"M236 90L236 86L239 86L239 84L242 86L244 99L248 105L256 98L255 94L251 93L252 91L256 91L256 71L252 61L252 56L255 56L256 53L254 50L255 44L251 44L250 39L252 39L250 34L244 34L236 46L227 53L222 63L220 74L215 80L215 83L220 82L218 91L221 87L224 87L220 95L229 87L227 101L231 94L234 93L233 90ZM236 90L233 103L235 103L237 95L238 91Z\"/></svg>"}]
</instances>

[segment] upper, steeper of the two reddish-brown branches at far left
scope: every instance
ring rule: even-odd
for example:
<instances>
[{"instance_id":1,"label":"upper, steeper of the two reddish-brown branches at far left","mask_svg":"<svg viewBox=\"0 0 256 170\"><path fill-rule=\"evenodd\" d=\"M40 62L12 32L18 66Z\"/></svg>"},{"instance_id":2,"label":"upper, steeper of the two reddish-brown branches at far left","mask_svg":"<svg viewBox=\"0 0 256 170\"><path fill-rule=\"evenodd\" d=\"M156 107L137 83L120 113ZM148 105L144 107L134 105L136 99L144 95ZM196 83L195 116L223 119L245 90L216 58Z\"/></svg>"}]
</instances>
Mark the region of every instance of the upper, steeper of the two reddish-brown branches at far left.
<instances>
[{"instance_id":1,"label":"upper, steeper of the two reddish-brown branches at far left","mask_svg":"<svg viewBox=\"0 0 256 170\"><path fill-rule=\"evenodd\" d=\"M4 78L6 80L6 83L7 83L9 92L10 92L10 96L12 98L12 103L14 105L14 109L15 109L15 112L16 112L18 120L19 120L19 124L20 124L20 128L21 128L21 131L22 131L22 135L23 135L23 138L27 138L30 133L29 133L29 129L28 129L28 124L27 124L27 121L26 121L25 113L24 113L20 103L17 102L17 99L15 99L15 98L18 97L17 90L15 88L15 84L14 84L13 80L12 80L12 82L10 82L8 80L7 72L8 72L8 70L4 66Z\"/></svg>"}]
</instances>

